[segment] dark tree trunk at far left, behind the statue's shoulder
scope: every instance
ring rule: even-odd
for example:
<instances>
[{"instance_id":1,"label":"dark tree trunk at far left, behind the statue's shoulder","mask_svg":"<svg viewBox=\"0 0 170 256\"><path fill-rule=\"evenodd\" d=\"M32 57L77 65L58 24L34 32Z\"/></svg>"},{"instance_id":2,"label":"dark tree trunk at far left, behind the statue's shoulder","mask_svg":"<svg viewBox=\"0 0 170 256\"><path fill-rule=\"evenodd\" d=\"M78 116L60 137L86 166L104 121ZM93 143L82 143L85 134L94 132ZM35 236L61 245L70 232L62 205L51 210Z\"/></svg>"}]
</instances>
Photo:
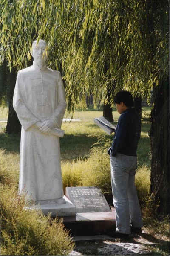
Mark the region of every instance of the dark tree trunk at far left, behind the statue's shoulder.
<instances>
[{"instance_id":1,"label":"dark tree trunk at far left, behind the statue's shoulder","mask_svg":"<svg viewBox=\"0 0 170 256\"><path fill-rule=\"evenodd\" d=\"M21 132L21 124L18 120L17 114L14 111L14 108L12 105L16 78L17 78L17 72L16 70L12 69L11 73L8 73L9 95L10 95L8 122L6 125L6 133L8 134L20 134Z\"/></svg>"}]
</instances>

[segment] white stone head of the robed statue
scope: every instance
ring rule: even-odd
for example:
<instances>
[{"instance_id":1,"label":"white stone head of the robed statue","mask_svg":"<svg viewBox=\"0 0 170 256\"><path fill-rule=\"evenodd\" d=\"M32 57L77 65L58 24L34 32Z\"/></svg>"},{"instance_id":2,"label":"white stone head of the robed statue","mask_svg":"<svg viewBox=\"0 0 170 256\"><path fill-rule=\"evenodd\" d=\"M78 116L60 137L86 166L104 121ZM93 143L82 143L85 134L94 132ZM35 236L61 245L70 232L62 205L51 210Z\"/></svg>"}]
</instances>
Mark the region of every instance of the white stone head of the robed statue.
<instances>
[{"instance_id":1,"label":"white stone head of the robed statue","mask_svg":"<svg viewBox=\"0 0 170 256\"><path fill-rule=\"evenodd\" d=\"M34 58L34 61L39 66L42 66L45 64L47 58L48 58L48 50L47 50L47 43L40 39L39 41L35 40L32 44L32 56Z\"/></svg>"}]
</instances>

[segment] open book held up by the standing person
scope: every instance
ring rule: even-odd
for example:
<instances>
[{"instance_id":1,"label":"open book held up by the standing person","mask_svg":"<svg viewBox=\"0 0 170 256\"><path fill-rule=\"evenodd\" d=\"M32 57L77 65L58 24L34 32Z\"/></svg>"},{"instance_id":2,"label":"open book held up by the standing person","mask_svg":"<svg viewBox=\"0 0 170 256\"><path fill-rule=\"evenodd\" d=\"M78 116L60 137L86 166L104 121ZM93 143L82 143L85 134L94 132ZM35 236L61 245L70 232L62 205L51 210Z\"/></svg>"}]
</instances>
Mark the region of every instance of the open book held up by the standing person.
<instances>
[{"instance_id":1,"label":"open book held up by the standing person","mask_svg":"<svg viewBox=\"0 0 170 256\"><path fill-rule=\"evenodd\" d=\"M94 118L94 122L96 125L102 128L108 135L111 135L116 129L116 126L112 125L111 122L105 119L104 116Z\"/></svg>"}]
</instances>

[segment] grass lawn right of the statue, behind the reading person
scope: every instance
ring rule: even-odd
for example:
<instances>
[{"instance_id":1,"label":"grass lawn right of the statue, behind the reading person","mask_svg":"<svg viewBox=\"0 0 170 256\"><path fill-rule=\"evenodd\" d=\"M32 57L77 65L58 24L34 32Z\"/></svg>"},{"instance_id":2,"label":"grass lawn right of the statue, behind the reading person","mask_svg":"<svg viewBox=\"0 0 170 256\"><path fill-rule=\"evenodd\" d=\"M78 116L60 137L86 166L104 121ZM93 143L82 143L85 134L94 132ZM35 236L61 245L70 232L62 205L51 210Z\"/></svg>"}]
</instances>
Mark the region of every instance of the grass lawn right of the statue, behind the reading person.
<instances>
[{"instance_id":1,"label":"grass lawn right of the statue, behind the reading person","mask_svg":"<svg viewBox=\"0 0 170 256\"><path fill-rule=\"evenodd\" d=\"M147 166L150 165L149 113L150 108L144 107L142 113L142 136L138 149L139 164L146 164ZM100 136L104 136L106 140L109 139L112 143L114 134L107 135L105 131L93 122L93 119L99 116L102 116L102 110L75 111L73 118L80 121L62 123L62 129L65 130L65 136L60 140L62 161L84 157L90 152L94 143L98 142ZM118 122L119 116L119 113L114 110L114 125ZM70 116L67 118L70 118ZM146 147L142 150L144 144Z\"/></svg>"}]
</instances>

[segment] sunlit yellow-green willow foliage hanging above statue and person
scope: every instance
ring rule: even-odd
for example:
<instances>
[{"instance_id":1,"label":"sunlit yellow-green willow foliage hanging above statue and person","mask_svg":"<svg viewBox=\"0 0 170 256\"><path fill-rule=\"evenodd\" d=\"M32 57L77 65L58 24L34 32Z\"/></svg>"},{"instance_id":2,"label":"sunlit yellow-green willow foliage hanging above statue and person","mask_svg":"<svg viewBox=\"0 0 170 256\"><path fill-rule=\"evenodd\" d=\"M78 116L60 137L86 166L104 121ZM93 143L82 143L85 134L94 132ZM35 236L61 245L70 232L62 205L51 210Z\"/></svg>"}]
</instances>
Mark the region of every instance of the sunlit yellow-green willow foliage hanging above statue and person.
<instances>
[{"instance_id":1,"label":"sunlit yellow-green willow foliage hanging above statue and person","mask_svg":"<svg viewBox=\"0 0 170 256\"><path fill-rule=\"evenodd\" d=\"M68 109L94 104L126 87L146 96L152 87L144 36L139 33L142 5L135 1L1 1L0 62L20 70L31 61L31 44L43 38L48 66L65 81ZM108 100L108 99L107 99Z\"/></svg>"}]
</instances>

